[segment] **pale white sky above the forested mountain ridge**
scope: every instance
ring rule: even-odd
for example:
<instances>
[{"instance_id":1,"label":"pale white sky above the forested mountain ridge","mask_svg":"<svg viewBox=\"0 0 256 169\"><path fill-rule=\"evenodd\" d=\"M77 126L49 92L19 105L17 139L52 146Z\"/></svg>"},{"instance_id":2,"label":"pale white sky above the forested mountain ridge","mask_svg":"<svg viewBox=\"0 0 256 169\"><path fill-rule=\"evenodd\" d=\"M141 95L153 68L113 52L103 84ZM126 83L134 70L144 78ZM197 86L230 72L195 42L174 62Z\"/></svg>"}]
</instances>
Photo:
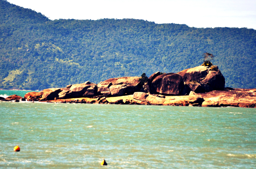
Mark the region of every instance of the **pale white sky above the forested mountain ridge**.
<instances>
[{"instance_id":1,"label":"pale white sky above the forested mountain ridge","mask_svg":"<svg viewBox=\"0 0 256 169\"><path fill-rule=\"evenodd\" d=\"M256 29L256 0L7 0L50 20L133 18L195 28Z\"/></svg>"}]
</instances>

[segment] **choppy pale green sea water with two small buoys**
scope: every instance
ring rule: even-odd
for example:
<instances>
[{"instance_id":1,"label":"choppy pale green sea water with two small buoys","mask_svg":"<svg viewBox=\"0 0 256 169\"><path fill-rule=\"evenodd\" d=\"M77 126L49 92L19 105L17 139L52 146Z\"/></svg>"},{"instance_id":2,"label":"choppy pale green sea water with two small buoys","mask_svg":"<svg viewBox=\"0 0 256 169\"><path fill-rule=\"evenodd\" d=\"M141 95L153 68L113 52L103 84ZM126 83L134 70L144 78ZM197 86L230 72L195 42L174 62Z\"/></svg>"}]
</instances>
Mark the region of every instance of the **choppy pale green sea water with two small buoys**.
<instances>
[{"instance_id":1,"label":"choppy pale green sea water with two small buoys","mask_svg":"<svg viewBox=\"0 0 256 169\"><path fill-rule=\"evenodd\" d=\"M0 101L0 168L256 168L255 117L239 107Z\"/></svg>"}]
</instances>

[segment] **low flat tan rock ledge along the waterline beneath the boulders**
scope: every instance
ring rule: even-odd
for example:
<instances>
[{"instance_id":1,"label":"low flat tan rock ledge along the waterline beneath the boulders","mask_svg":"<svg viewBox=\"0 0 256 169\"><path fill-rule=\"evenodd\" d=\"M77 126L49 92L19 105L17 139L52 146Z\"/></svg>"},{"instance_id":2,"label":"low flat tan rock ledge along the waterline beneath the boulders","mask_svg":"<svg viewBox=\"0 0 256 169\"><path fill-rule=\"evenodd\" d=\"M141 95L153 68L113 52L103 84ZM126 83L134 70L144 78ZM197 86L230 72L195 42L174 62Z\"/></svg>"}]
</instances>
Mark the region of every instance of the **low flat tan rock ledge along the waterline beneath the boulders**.
<instances>
[{"instance_id":1,"label":"low flat tan rock ledge along the waterline beneath the boulders","mask_svg":"<svg viewBox=\"0 0 256 169\"><path fill-rule=\"evenodd\" d=\"M188 96L163 96L136 92L133 95L117 97L95 96L93 98L56 99L45 102L256 108L256 89L230 90L230 88L227 88L224 90L214 90L209 93L191 92Z\"/></svg>"}]
</instances>

